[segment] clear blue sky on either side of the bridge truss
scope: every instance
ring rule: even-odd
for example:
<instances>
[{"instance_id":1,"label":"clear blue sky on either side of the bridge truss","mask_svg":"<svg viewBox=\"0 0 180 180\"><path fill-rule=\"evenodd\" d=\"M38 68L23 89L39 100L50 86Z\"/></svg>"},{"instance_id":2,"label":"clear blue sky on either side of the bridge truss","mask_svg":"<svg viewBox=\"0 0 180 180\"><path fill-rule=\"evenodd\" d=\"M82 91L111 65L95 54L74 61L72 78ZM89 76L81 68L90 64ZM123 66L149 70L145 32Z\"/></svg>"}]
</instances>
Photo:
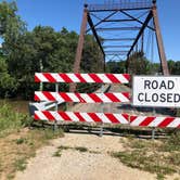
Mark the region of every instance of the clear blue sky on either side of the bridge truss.
<instances>
[{"instance_id":1,"label":"clear blue sky on either side of the bridge truss","mask_svg":"<svg viewBox=\"0 0 180 180\"><path fill-rule=\"evenodd\" d=\"M16 3L29 30L42 25L55 30L66 27L79 34L83 3L104 1L108 0L16 0ZM180 61L180 0L157 0L157 8L167 59Z\"/></svg>"}]
</instances>

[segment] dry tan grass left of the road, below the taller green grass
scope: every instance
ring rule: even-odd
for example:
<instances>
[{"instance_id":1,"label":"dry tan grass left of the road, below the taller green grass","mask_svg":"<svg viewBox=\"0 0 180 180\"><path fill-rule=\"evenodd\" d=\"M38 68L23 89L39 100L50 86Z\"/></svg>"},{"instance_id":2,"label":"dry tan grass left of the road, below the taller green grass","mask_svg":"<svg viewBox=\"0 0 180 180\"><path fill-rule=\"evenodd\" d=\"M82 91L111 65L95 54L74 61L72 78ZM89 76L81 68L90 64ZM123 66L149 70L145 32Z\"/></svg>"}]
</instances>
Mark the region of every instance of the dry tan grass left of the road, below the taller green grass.
<instances>
[{"instance_id":1,"label":"dry tan grass left of the road, below the taller green grass","mask_svg":"<svg viewBox=\"0 0 180 180\"><path fill-rule=\"evenodd\" d=\"M26 168L27 159L36 155L37 149L62 136L62 131L53 132L51 129L22 129L0 138L0 179L13 179L17 170Z\"/></svg>"}]
</instances>

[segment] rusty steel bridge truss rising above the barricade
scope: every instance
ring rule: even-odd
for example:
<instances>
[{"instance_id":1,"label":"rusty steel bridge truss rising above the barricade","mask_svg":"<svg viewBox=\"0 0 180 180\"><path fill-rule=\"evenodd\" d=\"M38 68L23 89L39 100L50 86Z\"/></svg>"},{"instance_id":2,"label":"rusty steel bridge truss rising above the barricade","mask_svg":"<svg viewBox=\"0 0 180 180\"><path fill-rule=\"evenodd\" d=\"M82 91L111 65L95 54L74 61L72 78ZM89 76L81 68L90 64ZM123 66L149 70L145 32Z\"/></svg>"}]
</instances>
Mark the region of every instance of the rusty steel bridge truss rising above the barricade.
<instances>
[{"instance_id":1,"label":"rusty steel bridge truss rising above the barricade","mask_svg":"<svg viewBox=\"0 0 180 180\"><path fill-rule=\"evenodd\" d=\"M105 60L126 60L128 64L128 59L133 51L138 49L143 51L146 29L156 35L162 72L168 75L156 0L118 0L117 2L112 0L103 4L85 4L74 73L79 72L86 34L90 31L93 34L102 51L105 66Z\"/></svg>"}]
</instances>

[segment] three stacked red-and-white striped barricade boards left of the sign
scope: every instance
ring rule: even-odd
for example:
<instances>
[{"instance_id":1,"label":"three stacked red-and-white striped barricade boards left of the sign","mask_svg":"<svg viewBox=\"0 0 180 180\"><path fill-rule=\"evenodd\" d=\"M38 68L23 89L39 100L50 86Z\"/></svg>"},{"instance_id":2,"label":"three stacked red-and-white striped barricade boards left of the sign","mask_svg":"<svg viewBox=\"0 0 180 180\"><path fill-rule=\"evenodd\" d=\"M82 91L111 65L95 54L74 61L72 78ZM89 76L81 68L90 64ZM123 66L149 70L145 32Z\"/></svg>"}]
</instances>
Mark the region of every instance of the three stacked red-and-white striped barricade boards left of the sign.
<instances>
[{"instance_id":1,"label":"three stacked red-and-white striped barricade boards left of the sign","mask_svg":"<svg viewBox=\"0 0 180 180\"><path fill-rule=\"evenodd\" d=\"M128 83L128 74L61 74L61 73L36 73L36 82L86 82L86 83ZM35 101L51 102L78 102L78 103L114 103L130 102L129 92L116 93L73 93L73 92L49 92L36 91ZM35 120L50 121L80 121L80 123L104 123L104 124L129 124L127 114L111 113L79 113L57 111L35 111Z\"/></svg>"}]
</instances>

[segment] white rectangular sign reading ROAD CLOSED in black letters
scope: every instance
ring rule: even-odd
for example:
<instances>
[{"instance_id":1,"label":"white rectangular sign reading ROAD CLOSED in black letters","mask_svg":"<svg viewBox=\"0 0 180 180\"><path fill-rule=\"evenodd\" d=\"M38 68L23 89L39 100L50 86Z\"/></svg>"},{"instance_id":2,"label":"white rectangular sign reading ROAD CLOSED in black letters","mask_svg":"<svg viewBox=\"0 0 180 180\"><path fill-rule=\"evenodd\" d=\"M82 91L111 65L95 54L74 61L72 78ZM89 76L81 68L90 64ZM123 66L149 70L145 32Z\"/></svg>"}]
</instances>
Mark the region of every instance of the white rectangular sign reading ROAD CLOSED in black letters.
<instances>
[{"instance_id":1,"label":"white rectangular sign reading ROAD CLOSED in black letters","mask_svg":"<svg viewBox=\"0 0 180 180\"><path fill-rule=\"evenodd\" d=\"M134 76L134 106L180 107L180 76Z\"/></svg>"}]
</instances>

